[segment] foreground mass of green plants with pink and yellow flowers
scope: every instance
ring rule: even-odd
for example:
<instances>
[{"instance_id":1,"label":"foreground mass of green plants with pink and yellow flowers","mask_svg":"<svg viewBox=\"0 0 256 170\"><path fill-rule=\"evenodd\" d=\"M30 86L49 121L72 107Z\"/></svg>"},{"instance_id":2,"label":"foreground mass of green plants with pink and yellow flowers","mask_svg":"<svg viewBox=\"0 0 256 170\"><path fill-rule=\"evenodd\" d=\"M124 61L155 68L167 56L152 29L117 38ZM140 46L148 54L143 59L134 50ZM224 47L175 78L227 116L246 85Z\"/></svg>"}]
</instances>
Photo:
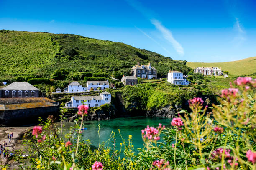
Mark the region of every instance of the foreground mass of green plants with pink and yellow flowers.
<instances>
[{"instance_id":1,"label":"foreground mass of green plants with pink and yellow flowers","mask_svg":"<svg viewBox=\"0 0 256 170\"><path fill-rule=\"evenodd\" d=\"M220 105L207 105L201 98L189 100L191 113L179 112L174 128L146 127L144 147L135 153L132 135L115 143L115 132L96 149L81 140L83 121L74 121L70 133L62 136L51 118L33 129L25 143L31 148L31 167L59 170L255 170L256 169L256 80L239 77L222 90ZM81 120L88 107L79 106ZM183 114L183 116L179 114ZM121 135L120 130L118 130ZM164 133L164 142L159 142Z\"/></svg>"}]
</instances>

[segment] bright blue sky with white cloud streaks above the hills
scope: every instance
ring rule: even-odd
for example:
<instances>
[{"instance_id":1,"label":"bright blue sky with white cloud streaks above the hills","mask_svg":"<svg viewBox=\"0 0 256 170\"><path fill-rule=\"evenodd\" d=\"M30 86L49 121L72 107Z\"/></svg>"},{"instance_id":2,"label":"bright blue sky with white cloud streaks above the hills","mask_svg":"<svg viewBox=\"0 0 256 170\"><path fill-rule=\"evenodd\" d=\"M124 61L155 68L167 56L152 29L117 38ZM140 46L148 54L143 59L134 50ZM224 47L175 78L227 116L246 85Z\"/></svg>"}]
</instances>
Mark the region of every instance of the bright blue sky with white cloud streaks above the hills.
<instances>
[{"instance_id":1,"label":"bright blue sky with white cloud streaks above the hills","mask_svg":"<svg viewBox=\"0 0 256 170\"><path fill-rule=\"evenodd\" d=\"M0 29L123 42L174 60L256 56L256 0L0 0Z\"/></svg>"}]
</instances>

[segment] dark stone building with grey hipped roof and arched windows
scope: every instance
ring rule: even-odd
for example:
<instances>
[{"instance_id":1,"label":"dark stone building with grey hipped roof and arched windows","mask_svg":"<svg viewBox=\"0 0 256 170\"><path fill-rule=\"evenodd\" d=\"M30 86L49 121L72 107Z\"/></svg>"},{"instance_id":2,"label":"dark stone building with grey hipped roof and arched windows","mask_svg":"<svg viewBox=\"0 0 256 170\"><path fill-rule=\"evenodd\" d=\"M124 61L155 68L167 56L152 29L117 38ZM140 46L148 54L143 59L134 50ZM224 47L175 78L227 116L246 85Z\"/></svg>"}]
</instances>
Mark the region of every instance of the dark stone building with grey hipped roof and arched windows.
<instances>
[{"instance_id":1,"label":"dark stone building with grey hipped roof and arched windows","mask_svg":"<svg viewBox=\"0 0 256 170\"><path fill-rule=\"evenodd\" d=\"M28 82L13 82L1 89L2 98L39 97L39 89Z\"/></svg>"}]
</instances>

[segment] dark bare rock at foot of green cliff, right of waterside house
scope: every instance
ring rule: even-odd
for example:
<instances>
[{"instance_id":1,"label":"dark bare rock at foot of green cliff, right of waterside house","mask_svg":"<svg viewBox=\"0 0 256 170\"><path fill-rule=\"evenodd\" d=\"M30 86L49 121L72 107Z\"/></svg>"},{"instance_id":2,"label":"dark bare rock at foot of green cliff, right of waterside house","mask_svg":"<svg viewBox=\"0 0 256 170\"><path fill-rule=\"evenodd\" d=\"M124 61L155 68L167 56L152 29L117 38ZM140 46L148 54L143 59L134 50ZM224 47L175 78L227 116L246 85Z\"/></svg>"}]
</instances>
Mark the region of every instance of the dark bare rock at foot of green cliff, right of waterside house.
<instances>
[{"instance_id":1,"label":"dark bare rock at foot of green cliff, right of waterside house","mask_svg":"<svg viewBox=\"0 0 256 170\"><path fill-rule=\"evenodd\" d=\"M166 105L161 109L148 110L146 116L156 116L156 117L175 117L177 109L174 109L171 105Z\"/></svg>"}]
</instances>

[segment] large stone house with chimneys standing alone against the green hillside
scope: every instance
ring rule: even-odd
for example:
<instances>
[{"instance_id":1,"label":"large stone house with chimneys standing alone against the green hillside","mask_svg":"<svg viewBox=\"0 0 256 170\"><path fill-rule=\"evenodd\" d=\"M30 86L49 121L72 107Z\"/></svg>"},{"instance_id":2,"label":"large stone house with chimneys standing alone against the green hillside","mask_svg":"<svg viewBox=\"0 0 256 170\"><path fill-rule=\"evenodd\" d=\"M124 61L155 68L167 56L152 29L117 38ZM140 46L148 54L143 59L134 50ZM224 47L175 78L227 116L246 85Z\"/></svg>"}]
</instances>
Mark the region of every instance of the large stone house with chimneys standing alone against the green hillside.
<instances>
[{"instance_id":1,"label":"large stone house with chimneys standing alone against the green hillside","mask_svg":"<svg viewBox=\"0 0 256 170\"><path fill-rule=\"evenodd\" d=\"M132 67L131 76L147 79L156 79L157 70L150 65L150 62L148 63L148 65L140 65L140 62L138 62L137 65Z\"/></svg>"}]
</instances>

